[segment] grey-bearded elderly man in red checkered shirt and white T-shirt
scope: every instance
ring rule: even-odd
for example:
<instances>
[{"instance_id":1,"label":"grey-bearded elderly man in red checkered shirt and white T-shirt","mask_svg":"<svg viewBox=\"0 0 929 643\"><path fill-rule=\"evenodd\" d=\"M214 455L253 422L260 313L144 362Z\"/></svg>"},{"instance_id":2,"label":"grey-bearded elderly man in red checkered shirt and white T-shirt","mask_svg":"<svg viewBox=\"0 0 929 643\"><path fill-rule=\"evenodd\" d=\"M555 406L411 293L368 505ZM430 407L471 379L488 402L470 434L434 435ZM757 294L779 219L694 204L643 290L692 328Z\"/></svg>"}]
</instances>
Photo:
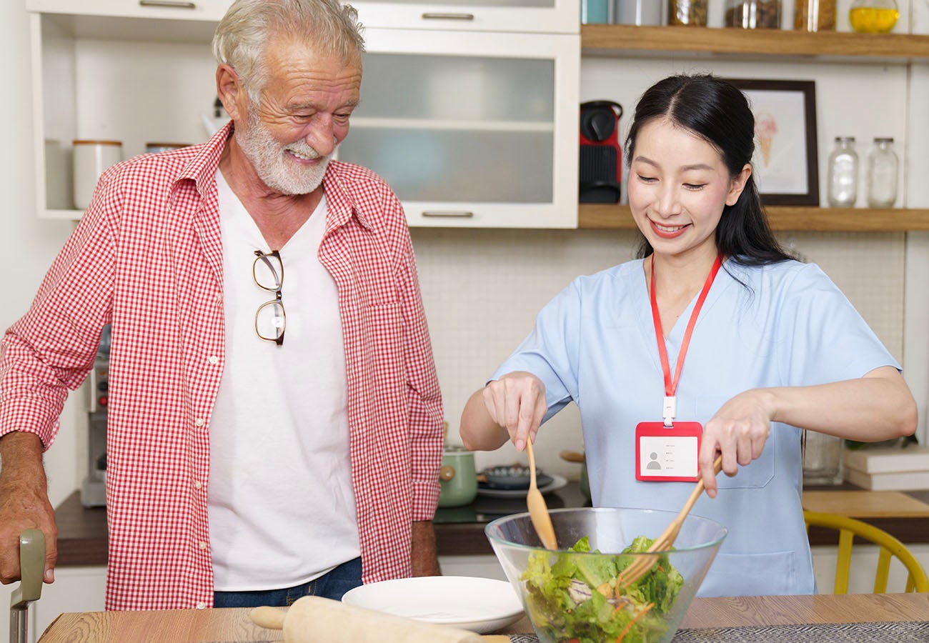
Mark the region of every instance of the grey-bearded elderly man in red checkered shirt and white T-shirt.
<instances>
[{"instance_id":1,"label":"grey-bearded elderly man in red checkered shirt and white T-shirt","mask_svg":"<svg viewBox=\"0 0 929 643\"><path fill-rule=\"evenodd\" d=\"M239 0L231 123L108 170L0 361L0 577L56 527L42 453L111 323L107 609L286 605L438 573L441 398L409 231L331 161L363 41L338 0Z\"/></svg>"}]
</instances>

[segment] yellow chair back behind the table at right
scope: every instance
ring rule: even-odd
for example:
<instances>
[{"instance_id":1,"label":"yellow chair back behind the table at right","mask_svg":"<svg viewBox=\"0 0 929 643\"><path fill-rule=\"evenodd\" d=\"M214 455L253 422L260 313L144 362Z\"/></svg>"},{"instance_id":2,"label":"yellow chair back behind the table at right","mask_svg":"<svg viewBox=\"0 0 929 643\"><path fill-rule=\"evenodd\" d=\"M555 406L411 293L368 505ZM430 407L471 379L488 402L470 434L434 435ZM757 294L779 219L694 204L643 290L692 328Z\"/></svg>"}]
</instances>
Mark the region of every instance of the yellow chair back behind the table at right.
<instances>
[{"instance_id":1,"label":"yellow chair back behind the table at right","mask_svg":"<svg viewBox=\"0 0 929 643\"><path fill-rule=\"evenodd\" d=\"M809 531L810 525L839 531L839 558L835 568L835 594L848 594L848 572L852 563L852 543L855 536L860 536L881 547L877 571L874 574L875 594L884 594L887 591L887 575L890 571L890 558L893 556L896 556L909 571L905 591L929 592L929 578L926 577L926 572L923 571L920 561L910 553L907 545L901 543L890 533L855 518L818 511L804 511L804 520L807 531Z\"/></svg>"}]
</instances>

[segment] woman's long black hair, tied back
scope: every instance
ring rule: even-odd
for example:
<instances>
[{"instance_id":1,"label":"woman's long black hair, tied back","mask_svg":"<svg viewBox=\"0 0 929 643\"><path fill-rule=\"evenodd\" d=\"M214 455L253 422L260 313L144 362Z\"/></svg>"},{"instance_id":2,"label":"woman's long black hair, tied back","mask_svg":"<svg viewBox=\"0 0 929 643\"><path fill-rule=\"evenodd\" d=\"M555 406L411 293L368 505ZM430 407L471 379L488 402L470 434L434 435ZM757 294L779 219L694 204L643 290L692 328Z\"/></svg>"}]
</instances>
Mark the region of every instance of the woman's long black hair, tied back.
<instances>
[{"instance_id":1,"label":"woman's long black hair, tied back","mask_svg":"<svg viewBox=\"0 0 929 643\"><path fill-rule=\"evenodd\" d=\"M754 153L754 115L739 88L712 74L669 76L650 86L635 106L626 137L626 164L635 153L639 130L656 118L693 132L723 157L730 177L736 177ZM745 182L739 201L723 208L716 227L716 247L724 256L747 266L792 259L767 224L754 176ZM642 235L636 256L653 252Z\"/></svg>"}]
</instances>

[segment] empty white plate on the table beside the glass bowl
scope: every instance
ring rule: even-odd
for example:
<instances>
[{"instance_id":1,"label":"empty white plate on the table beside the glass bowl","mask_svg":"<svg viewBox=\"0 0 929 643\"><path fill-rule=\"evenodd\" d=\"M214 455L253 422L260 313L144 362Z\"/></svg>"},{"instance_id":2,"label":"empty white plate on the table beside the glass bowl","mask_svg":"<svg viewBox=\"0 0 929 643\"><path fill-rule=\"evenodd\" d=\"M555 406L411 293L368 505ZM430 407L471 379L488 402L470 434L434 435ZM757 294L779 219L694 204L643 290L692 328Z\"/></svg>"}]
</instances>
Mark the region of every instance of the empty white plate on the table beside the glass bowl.
<instances>
[{"instance_id":1,"label":"empty white plate on the table beside the glass bowl","mask_svg":"<svg viewBox=\"0 0 929 643\"><path fill-rule=\"evenodd\" d=\"M421 576L361 585L342 601L426 623L478 634L496 632L523 615L522 603L505 581L469 576Z\"/></svg>"}]
</instances>

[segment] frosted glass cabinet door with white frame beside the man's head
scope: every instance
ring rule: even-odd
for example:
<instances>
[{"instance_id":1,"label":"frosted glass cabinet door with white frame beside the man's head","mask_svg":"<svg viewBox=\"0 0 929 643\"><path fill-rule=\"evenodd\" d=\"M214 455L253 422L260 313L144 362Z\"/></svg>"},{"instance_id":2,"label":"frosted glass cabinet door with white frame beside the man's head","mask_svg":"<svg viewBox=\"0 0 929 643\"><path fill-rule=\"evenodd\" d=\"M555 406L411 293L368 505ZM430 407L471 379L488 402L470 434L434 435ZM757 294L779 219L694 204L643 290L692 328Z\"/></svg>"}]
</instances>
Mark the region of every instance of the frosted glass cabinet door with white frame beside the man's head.
<instances>
[{"instance_id":1,"label":"frosted glass cabinet door with white frame beside the man's head","mask_svg":"<svg viewBox=\"0 0 929 643\"><path fill-rule=\"evenodd\" d=\"M576 36L380 32L340 161L413 226L576 227Z\"/></svg>"}]
</instances>

